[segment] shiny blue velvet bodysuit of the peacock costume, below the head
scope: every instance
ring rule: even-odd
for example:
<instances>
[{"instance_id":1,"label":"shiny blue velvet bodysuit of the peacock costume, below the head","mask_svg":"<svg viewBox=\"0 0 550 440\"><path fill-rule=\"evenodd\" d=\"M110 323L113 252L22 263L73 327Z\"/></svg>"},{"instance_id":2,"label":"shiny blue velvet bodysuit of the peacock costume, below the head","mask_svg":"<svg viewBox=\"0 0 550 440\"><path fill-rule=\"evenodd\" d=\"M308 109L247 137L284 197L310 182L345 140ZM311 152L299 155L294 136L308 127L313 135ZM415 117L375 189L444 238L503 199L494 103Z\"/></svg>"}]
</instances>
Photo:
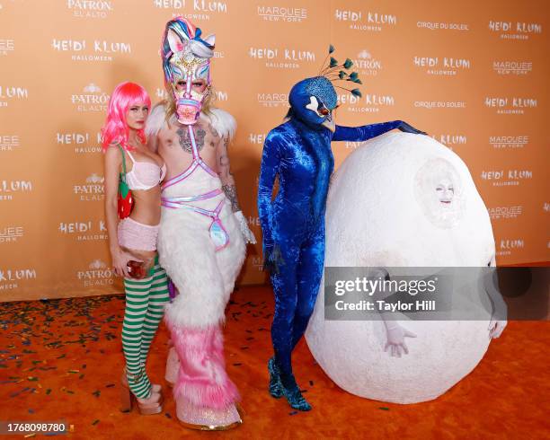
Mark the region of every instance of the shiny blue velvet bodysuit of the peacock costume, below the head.
<instances>
[{"instance_id":1,"label":"shiny blue velvet bodysuit of the peacock costume, below the head","mask_svg":"<svg viewBox=\"0 0 550 440\"><path fill-rule=\"evenodd\" d=\"M271 339L281 374L292 374L291 353L306 331L324 268L324 212L334 160L331 141L365 141L398 128L391 121L334 133L291 117L266 137L258 189L264 259L271 270L275 314ZM271 200L279 177L279 192Z\"/></svg>"}]
</instances>

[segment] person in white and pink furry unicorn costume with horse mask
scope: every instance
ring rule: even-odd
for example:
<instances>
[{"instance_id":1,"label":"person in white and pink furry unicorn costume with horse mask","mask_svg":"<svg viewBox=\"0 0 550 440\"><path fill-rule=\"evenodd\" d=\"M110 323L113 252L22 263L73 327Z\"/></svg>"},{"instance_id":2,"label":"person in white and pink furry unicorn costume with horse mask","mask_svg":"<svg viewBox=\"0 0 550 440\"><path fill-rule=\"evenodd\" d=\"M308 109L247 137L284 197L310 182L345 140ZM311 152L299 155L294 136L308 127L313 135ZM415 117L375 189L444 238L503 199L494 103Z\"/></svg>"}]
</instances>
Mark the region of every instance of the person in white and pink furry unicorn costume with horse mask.
<instances>
[{"instance_id":1,"label":"person in white and pink furry unicorn costume with horse mask","mask_svg":"<svg viewBox=\"0 0 550 440\"><path fill-rule=\"evenodd\" d=\"M165 309L173 340L167 376L177 369L177 417L187 427L227 429L242 419L235 383L226 374L221 325L245 242L255 239L229 171L235 119L211 107L214 36L200 35L182 17L166 24L161 56L170 99L151 111L146 135L168 167L157 247L179 291Z\"/></svg>"}]
</instances>

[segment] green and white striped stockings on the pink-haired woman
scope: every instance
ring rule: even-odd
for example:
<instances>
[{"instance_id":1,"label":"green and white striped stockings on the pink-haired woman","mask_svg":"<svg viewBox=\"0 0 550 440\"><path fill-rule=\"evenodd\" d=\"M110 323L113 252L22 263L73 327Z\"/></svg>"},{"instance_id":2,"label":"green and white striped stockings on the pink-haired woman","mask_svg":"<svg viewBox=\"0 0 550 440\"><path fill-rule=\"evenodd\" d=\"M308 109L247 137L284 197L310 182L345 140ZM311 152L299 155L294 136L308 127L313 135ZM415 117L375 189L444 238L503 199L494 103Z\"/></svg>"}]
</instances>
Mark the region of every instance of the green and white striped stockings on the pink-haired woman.
<instances>
[{"instance_id":1,"label":"green and white striped stockings on the pink-haired woman","mask_svg":"<svg viewBox=\"0 0 550 440\"><path fill-rule=\"evenodd\" d=\"M126 358L129 388L134 395L146 399L151 383L146 374L146 359L163 319L164 304L169 301L168 277L155 260L153 275L143 279L124 278L126 310L122 322L122 351Z\"/></svg>"}]
</instances>

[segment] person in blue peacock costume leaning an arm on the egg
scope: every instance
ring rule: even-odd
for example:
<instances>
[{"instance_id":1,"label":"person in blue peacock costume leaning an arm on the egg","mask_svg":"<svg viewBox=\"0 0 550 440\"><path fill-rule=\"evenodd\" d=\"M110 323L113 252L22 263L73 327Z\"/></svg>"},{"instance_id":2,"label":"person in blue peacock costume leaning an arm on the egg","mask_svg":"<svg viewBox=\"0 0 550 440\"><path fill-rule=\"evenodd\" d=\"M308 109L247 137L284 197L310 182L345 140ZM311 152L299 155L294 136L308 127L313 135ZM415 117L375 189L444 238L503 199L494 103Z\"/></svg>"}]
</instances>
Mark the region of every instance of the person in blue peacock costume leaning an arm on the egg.
<instances>
[{"instance_id":1,"label":"person in blue peacock costume leaning an arm on the egg","mask_svg":"<svg viewBox=\"0 0 550 440\"><path fill-rule=\"evenodd\" d=\"M357 89L352 92L360 95ZM324 212L334 167L331 142L366 141L394 128L424 133L402 120L353 128L334 125L337 94L325 76L295 84L288 101L287 120L270 131L263 145L258 211L264 268L271 272L275 294L270 393L284 395L292 408L307 411L311 406L292 373L291 354L306 331L323 275ZM277 176L279 192L271 201Z\"/></svg>"}]
</instances>

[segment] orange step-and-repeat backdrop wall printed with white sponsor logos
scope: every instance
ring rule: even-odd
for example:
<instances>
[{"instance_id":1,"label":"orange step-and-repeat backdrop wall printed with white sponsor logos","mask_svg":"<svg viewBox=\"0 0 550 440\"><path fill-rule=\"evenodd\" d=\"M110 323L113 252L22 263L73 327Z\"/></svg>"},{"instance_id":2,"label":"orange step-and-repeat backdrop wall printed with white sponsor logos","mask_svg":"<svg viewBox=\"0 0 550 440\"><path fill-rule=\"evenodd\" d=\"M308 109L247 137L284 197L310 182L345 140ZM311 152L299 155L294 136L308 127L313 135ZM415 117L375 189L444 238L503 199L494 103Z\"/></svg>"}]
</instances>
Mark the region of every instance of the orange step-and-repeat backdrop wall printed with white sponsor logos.
<instances>
[{"instance_id":1,"label":"orange step-and-repeat backdrop wall printed with white sponsor logos","mask_svg":"<svg viewBox=\"0 0 550 440\"><path fill-rule=\"evenodd\" d=\"M404 119L459 154L492 218L498 264L550 260L546 0L0 0L0 301L121 291L103 215L99 130L116 84L164 96L164 23L216 33L218 107L238 132L238 196L259 244L239 282L262 283L262 143L288 91L332 43L362 98L342 125ZM340 93L342 92L342 93ZM356 148L334 143L336 165ZM197 255L200 262L200 255ZM184 268L182 268L184 269Z\"/></svg>"}]
</instances>

